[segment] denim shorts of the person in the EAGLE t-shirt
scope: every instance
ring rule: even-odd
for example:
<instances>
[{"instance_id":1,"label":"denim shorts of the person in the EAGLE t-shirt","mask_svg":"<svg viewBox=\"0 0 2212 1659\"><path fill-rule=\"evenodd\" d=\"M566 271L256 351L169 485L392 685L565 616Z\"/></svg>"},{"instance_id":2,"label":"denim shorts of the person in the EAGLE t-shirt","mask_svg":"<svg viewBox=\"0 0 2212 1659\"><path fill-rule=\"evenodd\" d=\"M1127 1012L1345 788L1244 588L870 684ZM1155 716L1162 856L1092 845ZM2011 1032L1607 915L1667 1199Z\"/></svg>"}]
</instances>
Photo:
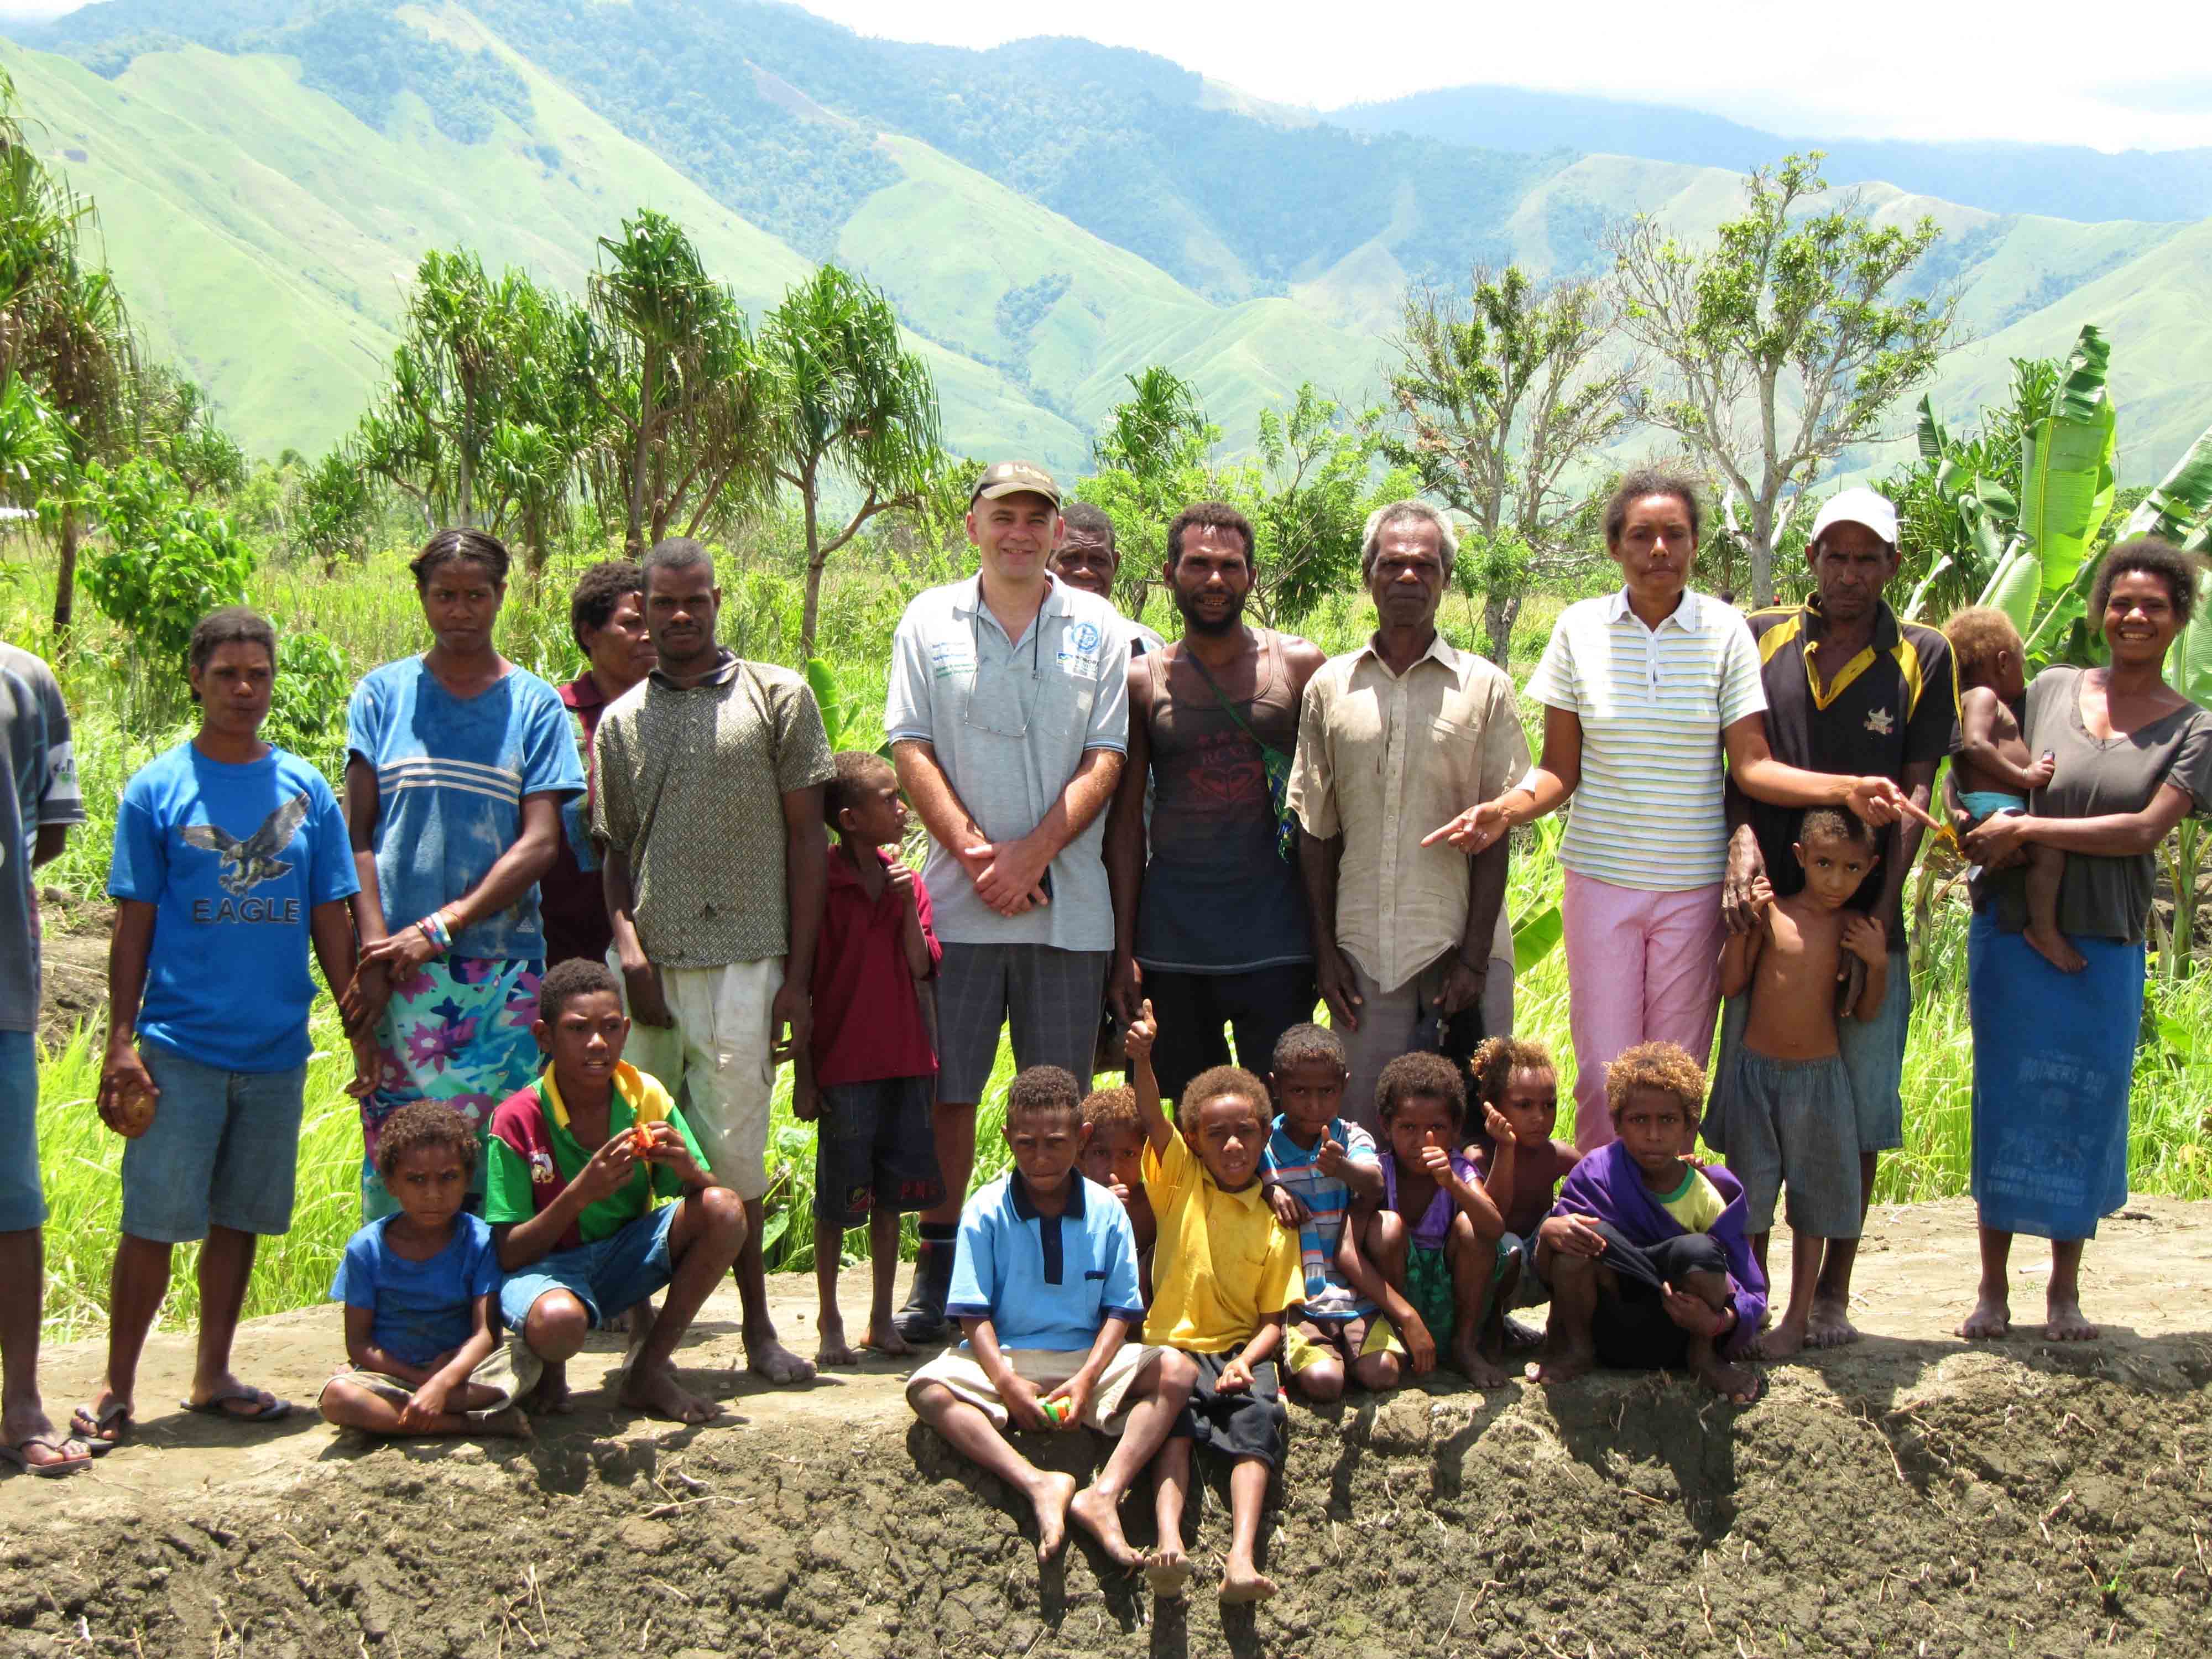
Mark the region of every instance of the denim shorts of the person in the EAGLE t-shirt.
<instances>
[{"instance_id":1,"label":"denim shorts of the person in the EAGLE t-shirt","mask_svg":"<svg viewBox=\"0 0 2212 1659\"><path fill-rule=\"evenodd\" d=\"M161 1091L153 1126L124 1146L124 1232L155 1243L208 1228L290 1232L307 1066L223 1071L142 1044Z\"/></svg>"}]
</instances>

